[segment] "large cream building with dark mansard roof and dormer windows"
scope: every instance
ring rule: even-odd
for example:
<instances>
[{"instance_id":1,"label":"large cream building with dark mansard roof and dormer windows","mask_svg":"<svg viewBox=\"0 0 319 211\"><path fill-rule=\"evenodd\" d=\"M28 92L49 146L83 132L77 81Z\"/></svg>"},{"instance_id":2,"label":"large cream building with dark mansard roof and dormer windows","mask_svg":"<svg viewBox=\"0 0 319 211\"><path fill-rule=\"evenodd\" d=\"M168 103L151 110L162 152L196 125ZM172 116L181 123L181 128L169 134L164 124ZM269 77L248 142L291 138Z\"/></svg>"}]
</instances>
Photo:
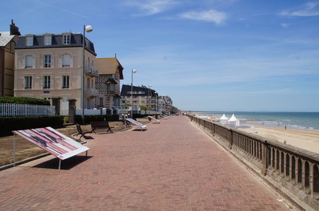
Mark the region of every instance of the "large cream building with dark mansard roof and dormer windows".
<instances>
[{"instance_id":1,"label":"large cream building with dark mansard roof and dormer windows","mask_svg":"<svg viewBox=\"0 0 319 211\"><path fill-rule=\"evenodd\" d=\"M83 37L70 32L19 36L15 47L15 97L61 98L61 115L68 115L71 99L76 100L77 109L94 108L99 75L96 53L89 39L83 44Z\"/></svg>"}]
</instances>

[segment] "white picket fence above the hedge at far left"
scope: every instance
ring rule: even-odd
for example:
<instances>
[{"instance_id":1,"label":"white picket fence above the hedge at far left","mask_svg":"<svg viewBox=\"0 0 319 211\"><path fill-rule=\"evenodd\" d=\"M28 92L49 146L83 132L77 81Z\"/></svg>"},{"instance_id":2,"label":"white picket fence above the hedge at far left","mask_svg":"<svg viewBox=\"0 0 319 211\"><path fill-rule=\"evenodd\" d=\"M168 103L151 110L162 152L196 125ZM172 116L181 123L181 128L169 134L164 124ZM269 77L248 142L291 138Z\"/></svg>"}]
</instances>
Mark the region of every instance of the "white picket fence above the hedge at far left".
<instances>
[{"instance_id":1,"label":"white picket fence above the hedge at far left","mask_svg":"<svg viewBox=\"0 0 319 211\"><path fill-rule=\"evenodd\" d=\"M0 103L0 116L55 116L55 107L36 104Z\"/></svg>"}]
</instances>

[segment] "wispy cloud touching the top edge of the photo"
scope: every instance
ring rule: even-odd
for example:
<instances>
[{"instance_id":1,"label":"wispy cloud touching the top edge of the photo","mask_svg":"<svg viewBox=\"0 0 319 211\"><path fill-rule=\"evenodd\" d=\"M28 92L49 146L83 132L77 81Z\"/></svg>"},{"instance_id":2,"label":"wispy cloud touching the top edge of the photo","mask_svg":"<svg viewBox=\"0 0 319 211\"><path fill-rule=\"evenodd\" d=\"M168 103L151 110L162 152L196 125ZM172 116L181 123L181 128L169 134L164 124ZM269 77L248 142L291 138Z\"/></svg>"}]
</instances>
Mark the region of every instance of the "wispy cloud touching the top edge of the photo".
<instances>
[{"instance_id":1,"label":"wispy cloud touching the top edge of the photo","mask_svg":"<svg viewBox=\"0 0 319 211\"><path fill-rule=\"evenodd\" d=\"M126 6L131 6L137 8L139 11L135 16L148 16L155 15L160 12L169 10L178 2L175 0L161 0L161 1L152 1L152 0L141 0L141 1L126 1Z\"/></svg>"}]
</instances>

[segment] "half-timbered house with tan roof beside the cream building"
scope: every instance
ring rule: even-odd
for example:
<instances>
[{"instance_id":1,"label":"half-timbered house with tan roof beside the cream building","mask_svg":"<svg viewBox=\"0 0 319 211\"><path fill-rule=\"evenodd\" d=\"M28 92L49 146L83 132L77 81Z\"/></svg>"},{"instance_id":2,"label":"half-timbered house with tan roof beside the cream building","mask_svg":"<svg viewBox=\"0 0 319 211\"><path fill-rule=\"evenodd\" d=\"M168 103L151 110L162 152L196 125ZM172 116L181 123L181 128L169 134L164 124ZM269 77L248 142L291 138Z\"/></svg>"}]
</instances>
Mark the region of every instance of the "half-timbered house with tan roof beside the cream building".
<instances>
[{"instance_id":1,"label":"half-timbered house with tan roof beside the cream building","mask_svg":"<svg viewBox=\"0 0 319 211\"><path fill-rule=\"evenodd\" d=\"M96 90L98 90L98 98L96 98L96 108L119 107L121 100L121 84L123 80L123 66L117 59L97 58L96 67L100 75L96 77Z\"/></svg>"}]
</instances>

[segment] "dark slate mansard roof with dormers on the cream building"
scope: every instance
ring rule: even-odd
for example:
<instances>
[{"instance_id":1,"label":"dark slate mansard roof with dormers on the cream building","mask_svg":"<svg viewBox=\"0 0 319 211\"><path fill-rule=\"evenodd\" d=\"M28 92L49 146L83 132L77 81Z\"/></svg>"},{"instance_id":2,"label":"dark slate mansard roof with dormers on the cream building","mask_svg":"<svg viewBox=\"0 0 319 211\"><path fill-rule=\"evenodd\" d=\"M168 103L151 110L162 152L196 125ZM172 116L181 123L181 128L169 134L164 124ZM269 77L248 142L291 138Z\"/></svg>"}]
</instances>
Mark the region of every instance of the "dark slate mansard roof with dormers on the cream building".
<instances>
[{"instance_id":1,"label":"dark slate mansard roof with dormers on the cream building","mask_svg":"<svg viewBox=\"0 0 319 211\"><path fill-rule=\"evenodd\" d=\"M63 44L63 35L69 34L71 35L70 44ZM83 46L83 35L80 33L62 33L62 34L45 34L51 35L51 45L44 45L44 35L23 35L19 36L17 40L17 45L15 49L30 49L30 48L72 48L72 47L82 47ZM26 37L33 36L33 46L26 45ZM94 44L87 37L85 37L87 41L89 41L89 47L85 46L85 49L96 55L94 51Z\"/></svg>"}]
</instances>

